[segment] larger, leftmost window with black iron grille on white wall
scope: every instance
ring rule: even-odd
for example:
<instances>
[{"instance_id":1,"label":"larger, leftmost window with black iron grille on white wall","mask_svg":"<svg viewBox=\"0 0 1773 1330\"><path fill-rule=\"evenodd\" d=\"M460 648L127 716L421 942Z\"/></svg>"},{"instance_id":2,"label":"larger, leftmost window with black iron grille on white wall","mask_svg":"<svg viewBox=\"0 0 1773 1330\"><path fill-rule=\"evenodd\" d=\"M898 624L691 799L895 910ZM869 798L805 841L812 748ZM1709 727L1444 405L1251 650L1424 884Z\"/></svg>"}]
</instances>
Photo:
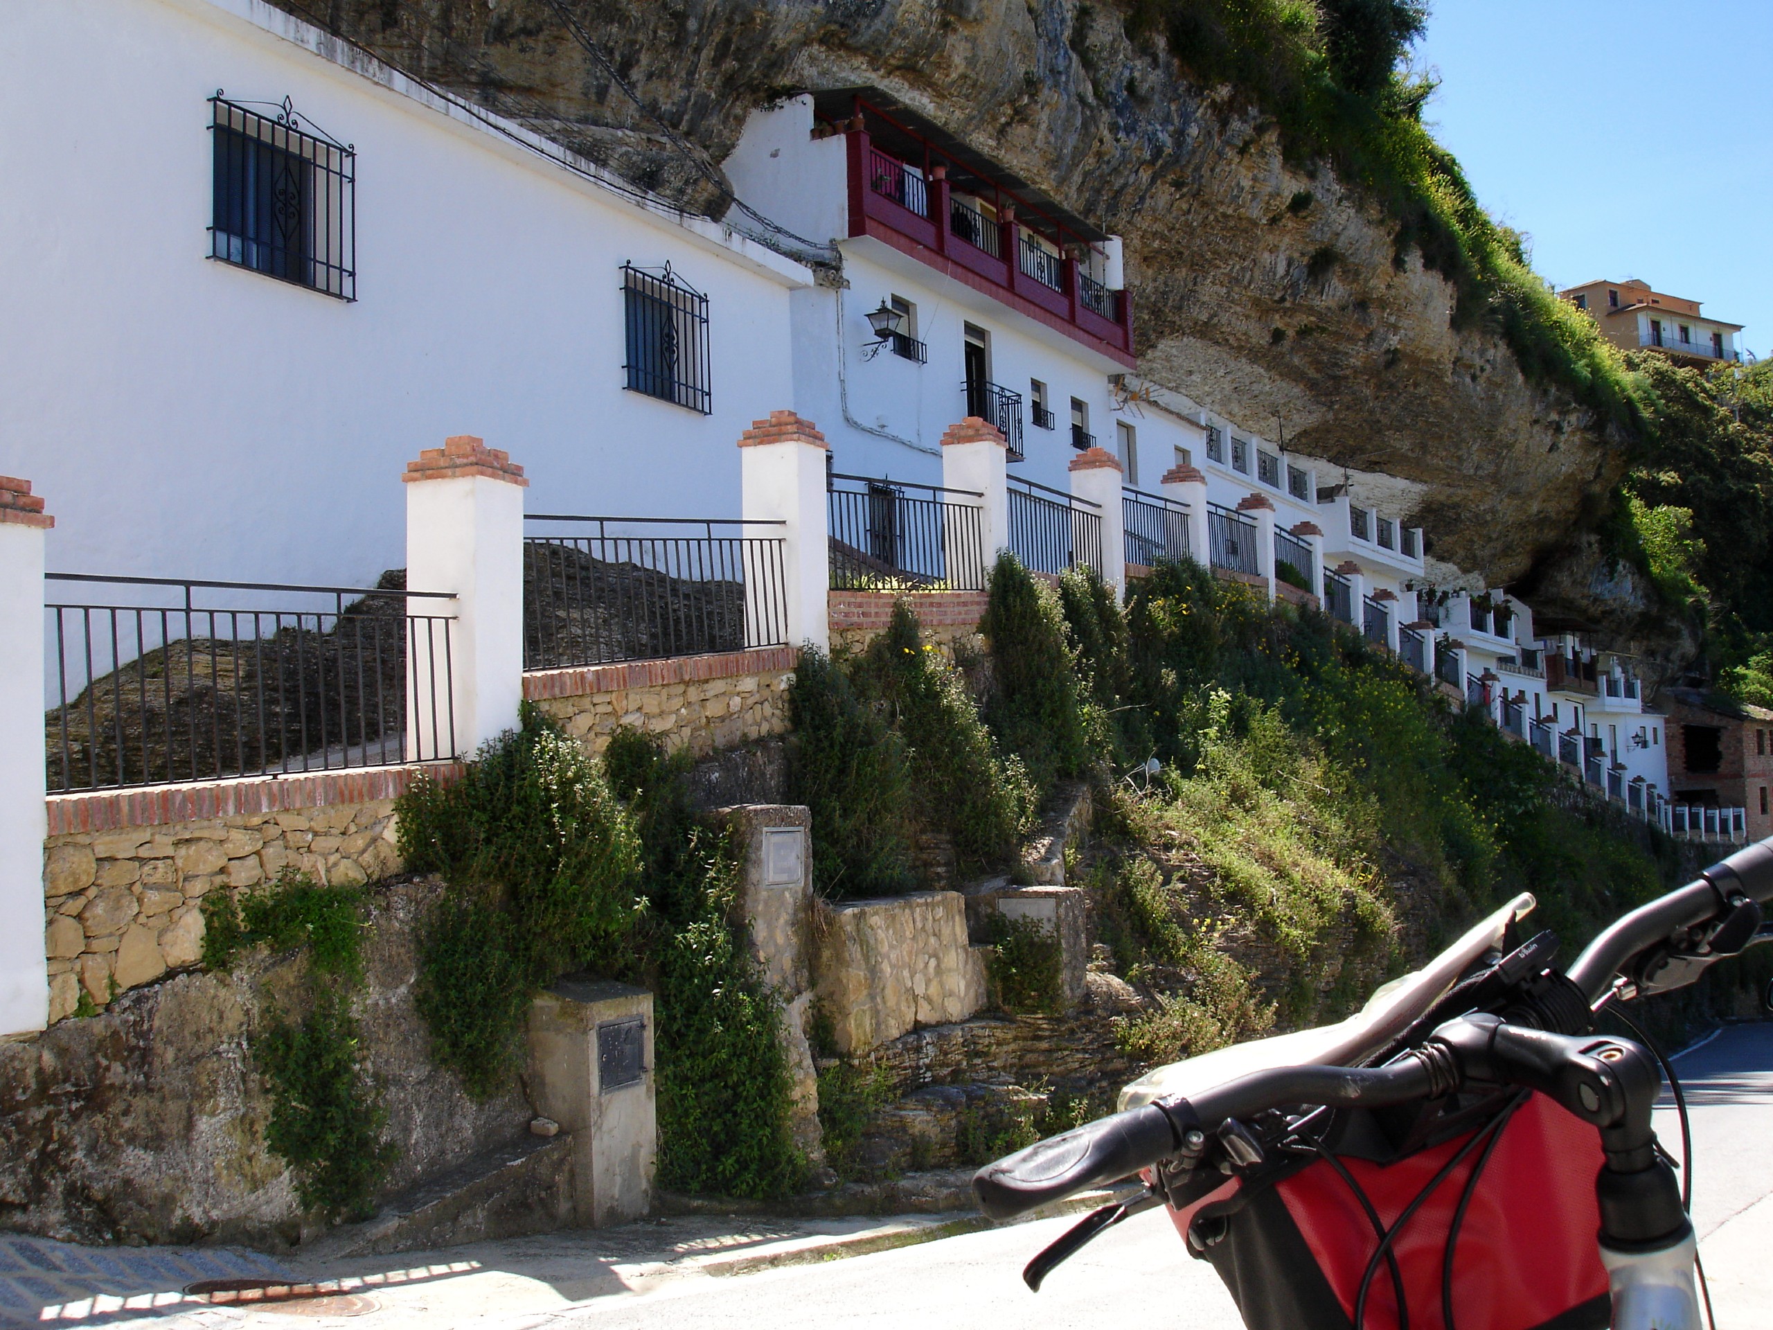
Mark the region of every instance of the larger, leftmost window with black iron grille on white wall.
<instances>
[{"instance_id":1,"label":"larger, leftmost window with black iron grille on white wall","mask_svg":"<svg viewBox=\"0 0 1773 1330\"><path fill-rule=\"evenodd\" d=\"M356 300L356 153L282 103L209 98L209 257Z\"/></svg>"}]
</instances>

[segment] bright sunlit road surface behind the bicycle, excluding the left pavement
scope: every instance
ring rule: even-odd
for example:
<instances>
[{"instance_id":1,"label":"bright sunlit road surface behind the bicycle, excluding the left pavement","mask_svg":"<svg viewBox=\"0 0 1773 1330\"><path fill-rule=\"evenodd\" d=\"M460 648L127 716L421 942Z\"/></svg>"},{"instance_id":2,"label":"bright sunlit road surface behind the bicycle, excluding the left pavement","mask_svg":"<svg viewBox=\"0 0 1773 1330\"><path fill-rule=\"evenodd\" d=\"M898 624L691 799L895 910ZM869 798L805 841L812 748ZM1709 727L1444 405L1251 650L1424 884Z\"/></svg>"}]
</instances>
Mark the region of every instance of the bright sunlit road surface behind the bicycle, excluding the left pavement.
<instances>
[{"instance_id":1,"label":"bright sunlit road surface behind the bicycle, excluding the left pavement","mask_svg":"<svg viewBox=\"0 0 1773 1330\"><path fill-rule=\"evenodd\" d=\"M1773 1023L1732 1025L1677 1055L1693 1117L1693 1218L1722 1326L1773 1319ZM1672 1105L1672 1101L1670 1101ZM1658 1119L1670 1149L1672 1107ZM1099 1330L1124 1326L1241 1330L1213 1270L1188 1259L1163 1213L1140 1215L1060 1266L1039 1295L1023 1263L1073 1220L947 1238L833 1266L801 1266L738 1280L684 1282L608 1298L551 1316L495 1318L488 1330L697 1330L768 1326L826 1330Z\"/></svg>"}]
</instances>

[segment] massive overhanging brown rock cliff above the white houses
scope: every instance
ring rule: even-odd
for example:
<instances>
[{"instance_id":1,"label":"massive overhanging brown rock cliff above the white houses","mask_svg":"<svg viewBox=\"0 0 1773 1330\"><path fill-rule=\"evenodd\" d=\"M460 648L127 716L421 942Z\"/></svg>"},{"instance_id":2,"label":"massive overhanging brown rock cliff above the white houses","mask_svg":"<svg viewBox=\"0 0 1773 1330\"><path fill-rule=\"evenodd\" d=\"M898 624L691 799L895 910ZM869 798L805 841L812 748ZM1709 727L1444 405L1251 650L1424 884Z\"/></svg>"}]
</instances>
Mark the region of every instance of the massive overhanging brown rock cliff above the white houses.
<instances>
[{"instance_id":1,"label":"massive overhanging brown rock cliff above the white houses","mask_svg":"<svg viewBox=\"0 0 1773 1330\"><path fill-rule=\"evenodd\" d=\"M1326 170L1282 160L1227 90L1135 48L1082 0L277 0L699 207L745 115L872 83L1121 232L1142 371L1252 429L1418 482L1441 560L1537 589L1543 612L1679 656L1652 601L1573 539L1626 440L1530 385L1500 333ZM638 103L569 27L605 51ZM700 163L690 154L700 154ZM746 200L769 211L768 199ZM816 238L823 239L823 238Z\"/></svg>"}]
</instances>

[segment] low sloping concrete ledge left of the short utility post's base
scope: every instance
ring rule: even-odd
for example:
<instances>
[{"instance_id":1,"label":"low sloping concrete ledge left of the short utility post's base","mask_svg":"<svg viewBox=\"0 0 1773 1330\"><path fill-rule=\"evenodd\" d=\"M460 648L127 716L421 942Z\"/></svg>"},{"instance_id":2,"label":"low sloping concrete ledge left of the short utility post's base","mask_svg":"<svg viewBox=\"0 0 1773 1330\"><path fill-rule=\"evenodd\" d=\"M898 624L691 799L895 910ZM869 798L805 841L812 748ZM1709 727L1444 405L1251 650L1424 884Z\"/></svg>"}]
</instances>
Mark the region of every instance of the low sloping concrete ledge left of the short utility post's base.
<instances>
[{"instance_id":1,"label":"low sloping concrete ledge left of the short utility post's base","mask_svg":"<svg viewBox=\"0 0 1773 1330\"><path fill-rule=\"evenodd\" d=\"M374 1218L346 1224L303 1248L303 1261L551 1232L573 1222L573 1137L523 1137L388 1201Z\"/></svg>"}]
</instances>

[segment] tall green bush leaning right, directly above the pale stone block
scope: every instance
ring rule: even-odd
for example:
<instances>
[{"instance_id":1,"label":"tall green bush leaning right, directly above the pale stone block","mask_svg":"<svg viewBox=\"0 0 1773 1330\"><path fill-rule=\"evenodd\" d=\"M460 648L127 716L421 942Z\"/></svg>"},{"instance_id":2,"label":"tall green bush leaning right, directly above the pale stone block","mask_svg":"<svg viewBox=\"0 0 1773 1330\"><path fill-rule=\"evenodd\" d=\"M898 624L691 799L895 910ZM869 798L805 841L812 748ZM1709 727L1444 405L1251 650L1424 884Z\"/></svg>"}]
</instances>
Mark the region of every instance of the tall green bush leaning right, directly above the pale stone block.
<instances>
[{"instance_id":1,"label":"tall green bush leaning right, directly above the pale stone block","mask_svg":"<svg viewBox=\"0 0 1773 1330\"><path fill-rule=\"evenodd\" d=\"M1034 787L1019 759L998 755L961 672L918 640L904 601L856 672L860 688L885 704L917 771L918 823L947 832L963 867L1009 864L1034 823Z\"/></svg>"}]
</instances>

